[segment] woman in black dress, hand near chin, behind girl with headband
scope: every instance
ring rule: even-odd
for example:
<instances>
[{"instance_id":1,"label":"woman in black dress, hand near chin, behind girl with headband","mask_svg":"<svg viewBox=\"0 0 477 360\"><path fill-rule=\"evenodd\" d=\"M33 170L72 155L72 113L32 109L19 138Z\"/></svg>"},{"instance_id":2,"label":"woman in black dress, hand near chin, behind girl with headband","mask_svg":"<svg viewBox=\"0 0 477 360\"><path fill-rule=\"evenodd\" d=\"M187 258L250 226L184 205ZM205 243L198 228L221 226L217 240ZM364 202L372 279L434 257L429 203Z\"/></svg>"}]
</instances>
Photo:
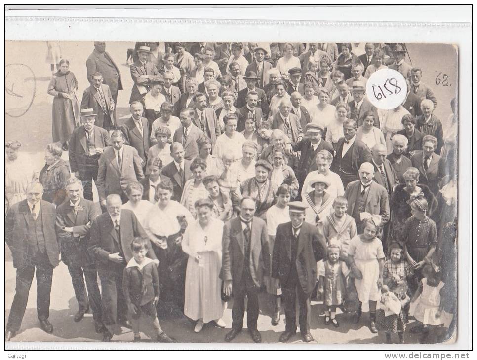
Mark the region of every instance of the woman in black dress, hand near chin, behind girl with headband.
<instances>
[{"instance_id":1,"label":"woman in black dress, hand near chin, behind girl with headband","mask_svg":"<svg viewBox=\"0 0 477 360\"><path fill-rule=\"evenodd\" d=\"M437 208L437 200L428 186L419 183L419 169L410 167L404 174L404 183L396 186L393 195L389 201L391 211L391 242L402 242L402 233L405 221L412 216L411 207L407 201L411 196L423 194L429 204L428 216ZM389 242L389 244L391 244Z\"/></svg>"}]
</instances>

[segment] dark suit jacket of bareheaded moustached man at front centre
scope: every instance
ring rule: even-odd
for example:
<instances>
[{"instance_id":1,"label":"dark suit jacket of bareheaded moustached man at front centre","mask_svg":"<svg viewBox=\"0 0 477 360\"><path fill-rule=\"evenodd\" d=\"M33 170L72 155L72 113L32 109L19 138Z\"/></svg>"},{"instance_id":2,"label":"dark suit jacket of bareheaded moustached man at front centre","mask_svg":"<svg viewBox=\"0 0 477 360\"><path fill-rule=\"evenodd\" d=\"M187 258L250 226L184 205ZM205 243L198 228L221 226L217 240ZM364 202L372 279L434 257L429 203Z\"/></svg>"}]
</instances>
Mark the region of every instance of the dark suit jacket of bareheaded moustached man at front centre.
<instances>
[{"instance_id":1,"label":"dark suit jacket of bareheaded moustached man at front centre","mask_svg":"<svg viewBox=\"0 0 477 360\"><path fill-rule=\"evenodd\" d=\"M244 239L240 217L227 221L222 237L222 269L220 278L232 280L232 291L239 288L245 261ZM250 236L250 275L256 287L262 284L262 276L270 274L270 245L267 224L253 217Z\"/></svg>"}]
</instances>

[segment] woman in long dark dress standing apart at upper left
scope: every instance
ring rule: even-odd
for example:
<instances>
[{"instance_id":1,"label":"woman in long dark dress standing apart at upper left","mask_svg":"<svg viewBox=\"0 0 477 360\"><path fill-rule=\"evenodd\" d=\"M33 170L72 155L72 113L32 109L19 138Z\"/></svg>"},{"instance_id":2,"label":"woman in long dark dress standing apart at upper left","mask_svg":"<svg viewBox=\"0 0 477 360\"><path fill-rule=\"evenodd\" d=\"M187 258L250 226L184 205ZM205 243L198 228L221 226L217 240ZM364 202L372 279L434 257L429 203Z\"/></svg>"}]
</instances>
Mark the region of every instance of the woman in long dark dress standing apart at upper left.
<instances>
[{"instance_id":1,"label":"woman in long dark dress standing apart at upper left","mask_svg":"<svg viewBox=\"0 0 477 360\"><path fill-rule=\"evenodd\" d=\"M66 150L71 133L79 125L80 102L76 96L78 80L69 71L70 62L60 60L60 70L53 75L48 85L48 94L53 99L53 142L60 142Z\"/></svg>"}]
</instances>

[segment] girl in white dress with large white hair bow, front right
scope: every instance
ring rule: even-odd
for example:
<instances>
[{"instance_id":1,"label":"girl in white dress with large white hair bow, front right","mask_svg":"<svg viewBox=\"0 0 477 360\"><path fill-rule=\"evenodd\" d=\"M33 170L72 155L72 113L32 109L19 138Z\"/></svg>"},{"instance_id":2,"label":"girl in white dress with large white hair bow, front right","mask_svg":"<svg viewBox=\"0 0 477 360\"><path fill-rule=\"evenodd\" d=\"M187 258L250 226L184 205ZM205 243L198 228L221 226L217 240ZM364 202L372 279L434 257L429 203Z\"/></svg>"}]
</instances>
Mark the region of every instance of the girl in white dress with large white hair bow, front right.
<instances>
[{"instance_id":1,"label":"girl in white dress with large white hair bow, front right","mask_svg":"<svg viewBox=\"0 0 477 360\"><path fill-rule=\"evenodd\" d=\"M355 287L358 293L358 311L355 324L361 319L361 306L364 301L369 303L370 330L377 333L376 305L381 298L379 288L383 285L384 252L381 240L376 237L381 224L381 216L361 213L364 233L351 239L348 257L351 271L355 277Z\"/></svg>"}]
</instances>

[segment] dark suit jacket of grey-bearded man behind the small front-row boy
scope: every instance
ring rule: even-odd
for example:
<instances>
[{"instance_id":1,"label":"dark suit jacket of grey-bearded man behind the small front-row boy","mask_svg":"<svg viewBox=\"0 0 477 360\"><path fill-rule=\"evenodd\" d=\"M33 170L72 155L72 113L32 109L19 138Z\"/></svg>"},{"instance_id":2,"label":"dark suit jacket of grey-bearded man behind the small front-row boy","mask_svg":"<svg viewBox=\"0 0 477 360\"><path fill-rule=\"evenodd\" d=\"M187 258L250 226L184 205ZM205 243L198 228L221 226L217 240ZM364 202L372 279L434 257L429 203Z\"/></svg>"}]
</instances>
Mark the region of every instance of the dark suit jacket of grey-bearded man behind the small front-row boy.
<instances>
[{"instance_id":1,"label":"dark suit jacket of grey-bearded man behind the small front-row boy","mask_svg":"<svg viewBox=\"0 0 477 360\"><path fill-rule=\"evenodd\" d=\"M119 220L119 232L120 239L114 228L113 221L109 214L103 213L93 220L90 237L88 241L88 250L93 256L98 269L103 270L120 270L126 266L126 264L133 257L131 250L131 241L135 237L141 237L149 239L146 232L142 228L139 220L134 213L127 209L121 210ZM115 253L115 243L122 249L124 261L122 264L111 261L108 256ZM156 259L156 255L153 251L151 244L149 244L147 257Z\"/></svg>"}]
</instances>

